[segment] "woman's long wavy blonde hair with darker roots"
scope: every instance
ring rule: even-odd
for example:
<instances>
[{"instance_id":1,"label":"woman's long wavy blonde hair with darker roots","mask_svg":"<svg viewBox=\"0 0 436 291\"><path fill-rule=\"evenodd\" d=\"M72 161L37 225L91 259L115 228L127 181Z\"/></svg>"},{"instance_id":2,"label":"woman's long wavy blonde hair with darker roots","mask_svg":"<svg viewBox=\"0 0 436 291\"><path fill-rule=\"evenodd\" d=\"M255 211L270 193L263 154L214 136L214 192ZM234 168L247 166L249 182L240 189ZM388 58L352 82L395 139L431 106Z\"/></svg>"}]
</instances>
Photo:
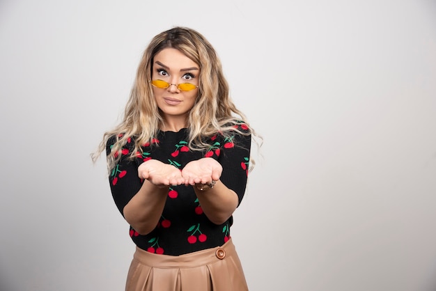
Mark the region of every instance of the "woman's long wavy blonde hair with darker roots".
<instances>
[{"instance_id":1,"label":"woman's long wavy blonde hair with darker roots","mask_svg":"<svg viewBox=\"0 0 436 291\"><path fill-rule=\"evenodd\" d=\"M134 137L134 150L131 153L134 158L136 152L142 152L141 145L151 143L164 124L148 80L153 71L153 58L166 48L178 49L200 67L198 96L187 120L189 148L205 150L209 145L204 143L204 138L217 133L224 136L230 136L231 132L256 135L244 113L235 107L229 96L221 61L210 42L193 29L177 26L159 33L151 40L139 63L123 120L103 134L98 150L91 154L93 162L96 162L105 150L108 139L114 138L111 155L107 155L109 171L120 159L120 151L127 139ZM245 123L249 130L241 132L234 126L241 123ZM250 164L252 168L254 161Z\"/></svg>"}]
</instances>

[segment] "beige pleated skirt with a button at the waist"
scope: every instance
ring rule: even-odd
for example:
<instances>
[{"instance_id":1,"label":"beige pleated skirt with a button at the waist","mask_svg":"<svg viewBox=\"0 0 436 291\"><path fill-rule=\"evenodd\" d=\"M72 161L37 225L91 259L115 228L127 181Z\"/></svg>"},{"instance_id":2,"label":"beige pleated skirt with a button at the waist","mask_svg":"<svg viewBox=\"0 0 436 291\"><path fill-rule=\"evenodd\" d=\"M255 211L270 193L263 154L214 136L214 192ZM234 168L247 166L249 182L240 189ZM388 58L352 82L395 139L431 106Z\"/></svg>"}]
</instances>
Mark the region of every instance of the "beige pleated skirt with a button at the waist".
<instances>
[{"instance_id":1,"label":"beige pleated skirt with a button at the waist","mask_svg":"<svg viewBox=\"0 0 436 291\"><path fill-rule=\"evenodd\" d=\"M247 291L231 239L223 246L186 255L157 255L137 247L126 291Z\"/></svg>"}]
</instances>

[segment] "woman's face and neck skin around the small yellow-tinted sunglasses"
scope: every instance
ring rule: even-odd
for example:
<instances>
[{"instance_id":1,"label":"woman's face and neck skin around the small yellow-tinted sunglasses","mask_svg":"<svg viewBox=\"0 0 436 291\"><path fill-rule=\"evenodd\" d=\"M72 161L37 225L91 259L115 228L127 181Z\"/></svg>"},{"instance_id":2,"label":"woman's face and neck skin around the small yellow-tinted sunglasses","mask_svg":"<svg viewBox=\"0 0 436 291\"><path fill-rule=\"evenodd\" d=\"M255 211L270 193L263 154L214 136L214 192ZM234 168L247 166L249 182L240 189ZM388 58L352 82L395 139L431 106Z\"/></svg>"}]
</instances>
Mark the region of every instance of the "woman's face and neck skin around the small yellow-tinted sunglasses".
<instances>
[{"instance_id":1,"label":"woman's face and neck skin around the small yellow-tinted sunglasses","mask_svg":"<svg viewBox=\"0 0 436 291\"><path fill-rule=\"evenodd\" d=\"M171 84L168 88L153 86L157 107L162 111L166 123L187 120L189 111L194 107L198 88L182 91L178 84L191 83L198 86L199 66L178 49L162 49L155 55L152 80L162 80Z\"/></svg>"}]
</instances>

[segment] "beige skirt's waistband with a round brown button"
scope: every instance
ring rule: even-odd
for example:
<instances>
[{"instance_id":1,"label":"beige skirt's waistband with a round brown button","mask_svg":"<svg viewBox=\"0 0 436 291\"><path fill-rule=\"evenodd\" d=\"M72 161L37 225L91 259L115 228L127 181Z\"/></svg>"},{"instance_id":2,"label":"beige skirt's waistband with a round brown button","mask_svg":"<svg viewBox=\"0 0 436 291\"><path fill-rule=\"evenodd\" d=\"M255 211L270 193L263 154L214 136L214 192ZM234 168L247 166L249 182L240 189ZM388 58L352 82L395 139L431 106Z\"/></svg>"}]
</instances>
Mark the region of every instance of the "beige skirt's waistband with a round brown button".
<instances>
[{"instance_id":1,"label":"beige skirt's waistband with a round brown button","mask_svg":"<svg viewBox=\"0 0 436 291\"><path fill-rule=\"evenodd\" d=\"M185 255L158 255L144 251L137 246L133 258L150 267L182 269L208 265L233 255L236 255L235 245L232 239L228 239L222 246Z\"/></svg>"}]
</instances>

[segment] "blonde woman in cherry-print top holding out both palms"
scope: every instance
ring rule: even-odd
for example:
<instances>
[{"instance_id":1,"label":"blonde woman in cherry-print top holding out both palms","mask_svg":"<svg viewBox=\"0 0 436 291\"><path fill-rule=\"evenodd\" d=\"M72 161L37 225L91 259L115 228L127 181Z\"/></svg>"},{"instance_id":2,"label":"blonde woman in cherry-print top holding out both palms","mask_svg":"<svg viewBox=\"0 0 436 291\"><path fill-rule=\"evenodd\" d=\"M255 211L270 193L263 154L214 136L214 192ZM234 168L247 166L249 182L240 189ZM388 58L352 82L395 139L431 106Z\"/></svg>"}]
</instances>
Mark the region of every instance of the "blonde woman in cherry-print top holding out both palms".
<instances>
[{"instance_id":1,"label":"blonde woman in cherry-print top holding out both palms","mask_svg":"<svg viewBox=\"0 0 436 291\"><path fill-rule=\"evenodd\" d=\"M136 244L125 290L248 290L232 214L256 136L200 33L159 33L143 54L123 121L106 132L109 182Z\"/></svg>"}]
</instances>

